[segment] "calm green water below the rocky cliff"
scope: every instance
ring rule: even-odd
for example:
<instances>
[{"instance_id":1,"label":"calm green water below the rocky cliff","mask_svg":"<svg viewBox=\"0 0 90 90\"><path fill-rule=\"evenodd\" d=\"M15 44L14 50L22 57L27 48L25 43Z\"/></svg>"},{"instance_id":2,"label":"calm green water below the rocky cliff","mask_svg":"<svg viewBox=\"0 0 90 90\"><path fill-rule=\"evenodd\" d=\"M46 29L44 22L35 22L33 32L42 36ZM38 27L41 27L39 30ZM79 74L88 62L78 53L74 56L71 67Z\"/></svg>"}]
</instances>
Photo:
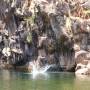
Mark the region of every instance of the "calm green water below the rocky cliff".
<instances>
[{"instance_id":1,"label":"calm green water below the rocky cliff","mask_svg":"<svg viewBox=\"0 0 90 90\"><path fill-rule=\"evenodd\" d=\"M90 90L90 78L73 73L47 73L33 77L29 73L0 71L0 90Z\"/></svg>"}]
</instances>

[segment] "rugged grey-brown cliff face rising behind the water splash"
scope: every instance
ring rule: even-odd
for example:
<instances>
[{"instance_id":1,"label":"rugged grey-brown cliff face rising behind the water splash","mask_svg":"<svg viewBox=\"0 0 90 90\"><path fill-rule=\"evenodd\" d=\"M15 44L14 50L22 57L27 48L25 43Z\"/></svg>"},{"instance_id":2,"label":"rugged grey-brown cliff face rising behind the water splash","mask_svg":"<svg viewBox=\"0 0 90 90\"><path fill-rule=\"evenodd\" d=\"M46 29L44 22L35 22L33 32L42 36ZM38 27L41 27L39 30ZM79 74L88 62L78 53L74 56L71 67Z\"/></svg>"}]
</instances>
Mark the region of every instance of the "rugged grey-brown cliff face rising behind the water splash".
<instances>
[{"instance_id":1,"label":"rugged grey-brown cliff face rising behind the water splash","mask_svg":"<svg viewBox=\"0 0 90 90\"><path fill-rule=\"evenodd\" d=\"M27 67L31 61L40 67L54 64L53 71L73 71L75 66L78 71L82 69L78 64L85 63L86 69L90 60L89 8L89 0L0 1L1 61ZM5 52L7 47L10 50Z\"/></svg>"}]
</instances>

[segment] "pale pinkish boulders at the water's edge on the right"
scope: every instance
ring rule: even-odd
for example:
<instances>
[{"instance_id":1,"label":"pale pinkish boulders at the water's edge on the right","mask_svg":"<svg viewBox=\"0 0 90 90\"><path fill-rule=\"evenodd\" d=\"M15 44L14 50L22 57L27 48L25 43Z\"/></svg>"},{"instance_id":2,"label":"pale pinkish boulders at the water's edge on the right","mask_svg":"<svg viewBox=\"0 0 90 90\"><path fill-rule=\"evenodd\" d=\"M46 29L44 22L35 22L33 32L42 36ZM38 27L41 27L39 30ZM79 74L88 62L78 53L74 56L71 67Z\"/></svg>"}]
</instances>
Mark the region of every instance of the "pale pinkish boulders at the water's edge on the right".
<instances>
[{"instance_id":1,"label":"pale pinkish boulders at the water's edge on the right","mask_svg":"<svg viewBox=\"0 0 90 90\"><path fill-rule=\"evenodd\" d=\"M79 51L76 55L76 75L90 75L90 53Z\"/></svg>"}]
</instances>

